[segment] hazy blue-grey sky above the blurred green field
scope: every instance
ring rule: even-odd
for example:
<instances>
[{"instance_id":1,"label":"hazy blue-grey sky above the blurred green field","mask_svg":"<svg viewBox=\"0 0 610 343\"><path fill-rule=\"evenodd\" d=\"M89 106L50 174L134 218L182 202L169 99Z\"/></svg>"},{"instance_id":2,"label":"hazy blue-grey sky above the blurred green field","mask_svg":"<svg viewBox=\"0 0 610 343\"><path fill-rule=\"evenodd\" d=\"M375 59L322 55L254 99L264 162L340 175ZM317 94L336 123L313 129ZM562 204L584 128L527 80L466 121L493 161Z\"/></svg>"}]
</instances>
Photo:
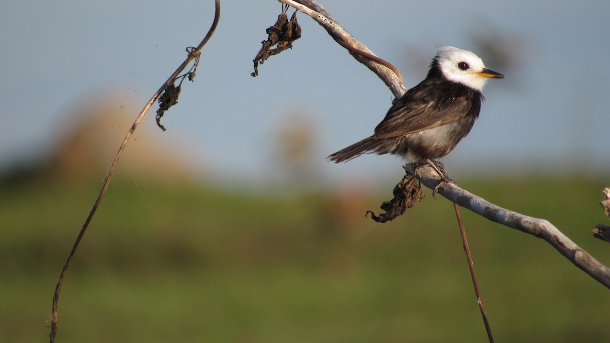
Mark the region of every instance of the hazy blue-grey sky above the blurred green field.
<instances>
[{"instance_id":1,"label":"hazy blue-grey sky above the blurred green field","mask_svg":"<svg viewBox=\"0 0 610 343\"><path fill-rule=\"evenodd\" d=\"M506 76L487 84L481 117L442 160L450 173L607 174L610 2L320 3L394 63L407 87L425 78L437 44L472 50ZM68 109L100 90L112 90L118 106L131 109L117 128L126 131L213 17L213 2L201 0L26 0L2 7L0 168L51 153L79 120ZM202 173L273 178L273 151L281 145L274 132L300 112L316 137L312 163L326 178L400 176L402 162L393 156L325 161L373 132L392 93L303 13L303 38L267 60L257 78L249 76L279 11L273 0L221 2L195 82L163 118L168 131L143 132L176 146ZM476 51L481 40L510 56L508 70ZM154 112L145 121L153 123Z\"/></svg>"}]
</instances>

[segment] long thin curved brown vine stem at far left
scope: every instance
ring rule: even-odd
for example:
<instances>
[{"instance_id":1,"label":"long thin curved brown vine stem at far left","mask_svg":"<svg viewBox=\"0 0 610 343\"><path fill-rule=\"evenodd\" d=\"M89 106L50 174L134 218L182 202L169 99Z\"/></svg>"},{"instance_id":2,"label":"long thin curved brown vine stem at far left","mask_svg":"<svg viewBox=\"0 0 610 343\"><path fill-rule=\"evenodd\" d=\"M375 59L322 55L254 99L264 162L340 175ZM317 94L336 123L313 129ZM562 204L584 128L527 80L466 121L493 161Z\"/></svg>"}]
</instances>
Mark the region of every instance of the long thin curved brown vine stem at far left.
<instances>
[{"instance_id":1,"label":"long thin curved brown vine stem at far left","mask_svg":"<svg viewBox=\"0 0 610 343\"><path fill-rule=\"evenodd\" d=\"M98 209L99 203L101 202L102 198L104 197L104 194L106 193L106 189L108 188L108 185L110 184L110 179L112 179L112 175L114 173L115 167L117 167L118 159L119 159L119 157L121 157L121 153L123 153L125 145L127 145L127 142L131 138L131 135L134 133L135 128L137 128L138 124L140 124L140 121L142 121L142 118L144 117L146 112L148 112L148 109L150 109L152 104L154 104L155 101L157 101L157 99L159 98L159 95L163 92L163 90L165 90L165 88L167 88L169 85L173 85L174 81L178 77L178 74L182 73L182 71L187 67L187 65L193 59L198 58L201 48L203 48L203 46L206 45L206 43L210 39L210 37L212 37L212 34L214 33L216 26L218 25L219 19L220 19L220 0L215 0L214 20L212 23L212 27L210 27L210 30L206 34L206 37L203 38L201 43L199 43L199 45L196 48L187 49L187 51L188 51L187 58L184 60L184 62L182 62L180 67L178 67L178 69L176 69L176 71L174 71L174 73L171 74L170 78L168 78L167 81L165 81L163 83L163 85L159 88L159 90L157 90L157 92L154 93L154 95L152 95L152 98L148 101L148 103L146 103L146 105L144 106L144 108L142 109L140 114L138 114L138 117L135 118L134 124L131 126L129 131L127 131L127 134L125 135L125 138L123 139L123 143L121 143L121 146L117 151L117 156L115 156L115 159L112 162L112 165L110 165L110 170L108 171L108 174L106 175L106 179L104 179L104 186L102 186L102 189L99 192L99 196L98 196L97 200L93 204L93 207L91 208L91 211L89 212L89 215L87 216L87 219L85 220L85 223L81 228L81 231L79 232L78 236L76 237L76 242L74 242L74 245L72 247L72 250L70 251L70 255L68 255L68 259L66 260L65 265L63 265L62 273L59 276L59 281L57 281L57 287L56 287L55 293L53 295L51 333L49 334L49 337L51 338L51 343L55 342L55 337L57 334L57 317L58 317L57 301L59 300L59 292L62 289L63 280L66 276L66 273L68 272L68 268L70 268L70 264L72 262L72 259L74 258L74 253L76 253L76 248L78 247L79 242L81 242L82 236L85 234L85 230L87 229L87 227L89 226L89 223L91 222L91 218L93 218L93 215L95 214L96 209Z\"/></svg>"}]
</instances>

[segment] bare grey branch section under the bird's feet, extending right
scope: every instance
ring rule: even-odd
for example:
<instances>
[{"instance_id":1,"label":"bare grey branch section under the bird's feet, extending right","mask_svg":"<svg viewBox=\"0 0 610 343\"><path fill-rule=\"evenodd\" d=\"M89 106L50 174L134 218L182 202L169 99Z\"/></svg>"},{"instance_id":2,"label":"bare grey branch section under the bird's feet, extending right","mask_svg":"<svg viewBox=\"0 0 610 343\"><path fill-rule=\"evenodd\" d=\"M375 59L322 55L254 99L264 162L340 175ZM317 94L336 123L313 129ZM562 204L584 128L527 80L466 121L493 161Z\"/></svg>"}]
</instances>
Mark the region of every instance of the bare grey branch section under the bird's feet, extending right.
<instances>
[{"instance_id":1,"label":"bare grey branch section under the bird's feet, extending right","mask_svg":"<svg viewBox=\"0 0 610 343\"><path fill-rule=\"evenodd\" d=\"M564 255L565 258L572 261L576 267L584 270L592 278L610 288L610 269L594 259L587 251L578 247L548 220L528 217L527 215L501 208L461 189L455 184L442 182L439 185L439 182L441 182L440 176L429 165L421 165L417 170L414 170L412 165L406 164L404 169L407 173L415 175L424 186L430 189L435 189L438 186L437 193L459 206L467 208L492 222L500 223L509 228L518 229L524 233L544 239Z\"/></svg>"}]
</instances>

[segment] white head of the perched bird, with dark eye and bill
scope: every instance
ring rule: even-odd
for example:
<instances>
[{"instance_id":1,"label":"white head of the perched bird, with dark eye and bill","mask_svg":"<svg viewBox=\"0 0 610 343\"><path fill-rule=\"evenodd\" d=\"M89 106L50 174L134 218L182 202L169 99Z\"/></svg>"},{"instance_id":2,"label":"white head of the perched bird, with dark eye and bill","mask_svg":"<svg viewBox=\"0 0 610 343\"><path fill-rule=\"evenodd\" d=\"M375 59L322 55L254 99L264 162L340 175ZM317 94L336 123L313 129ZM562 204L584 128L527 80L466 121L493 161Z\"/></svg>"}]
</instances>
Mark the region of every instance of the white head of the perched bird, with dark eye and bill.
<instances>
[{"instance_id":1,"label":"white head of the perched bird, with dark eye and bill","mask_svg":"<svg viewBox=\"0 0 610 343\"><path fill-rule=\"evenodd\" d=\"M485 68L481 57L470 51L442 46L434 57L440 72L449 81L463 84L481 92L489 78L502 79L502 74Z\"/></svg>"}]
</instances>

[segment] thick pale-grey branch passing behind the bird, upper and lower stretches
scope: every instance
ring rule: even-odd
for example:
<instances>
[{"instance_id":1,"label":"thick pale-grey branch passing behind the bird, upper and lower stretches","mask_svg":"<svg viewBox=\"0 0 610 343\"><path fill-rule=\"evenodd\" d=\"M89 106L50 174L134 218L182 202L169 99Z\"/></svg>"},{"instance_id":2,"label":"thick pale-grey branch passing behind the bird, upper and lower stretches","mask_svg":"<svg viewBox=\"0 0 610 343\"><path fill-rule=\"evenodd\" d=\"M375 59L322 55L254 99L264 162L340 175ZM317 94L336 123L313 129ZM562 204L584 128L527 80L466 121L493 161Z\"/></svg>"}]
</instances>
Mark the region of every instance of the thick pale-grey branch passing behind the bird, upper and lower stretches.
<instances>
[{"instance_id":1,"label":"thick pale-grey branch passing behind the bird, upper and lower stretches","mask_svg":"<svg viewBox=\"0 0 610 343\"><path fill-rule=\"evenodd\" d=\"M331 15L313 0L278 0L288 4L295 9L311 16L326 31L339 42L347 42L353 48L365 51L370 54L373 52L367 48L364 44L358 42L356 38L352 37L343 27L337 23ZM393 73L387 67L380 65L377 62L370 61L365 57L353 55L354 58L364 63L370 70L376 73L379 78L392 90L392 93L398 98L406 92L400 76ZM404 168L415 175L426 187L435 189L440 182L439 175L431 167L420 167L417 168L417 173L412 170L411 165L405 165ZM580 269L584 270L587 274L592 276L595 280L599 281L604 286L610 288L610 269L605 265L594 259L589 253L578 247L572 240L565 236L559 229L553 226L550 222L544 219L528 217L526 215L519 214L517 212L509 211L507 209L500 208L495 204L490 203L483 198L477 197L476 195L469 193L454 184L448 184L443 182L438 188L438 193L443 197L453 201L460 206L470 209L470 211L476 214L482 215L483 217L492 220L493 222L506 225L509 228L518 229L524 233L531 234L533 236L544 239L548 244L552 245L567 259L572 261Z\"/></svg>"}]
</instances>

